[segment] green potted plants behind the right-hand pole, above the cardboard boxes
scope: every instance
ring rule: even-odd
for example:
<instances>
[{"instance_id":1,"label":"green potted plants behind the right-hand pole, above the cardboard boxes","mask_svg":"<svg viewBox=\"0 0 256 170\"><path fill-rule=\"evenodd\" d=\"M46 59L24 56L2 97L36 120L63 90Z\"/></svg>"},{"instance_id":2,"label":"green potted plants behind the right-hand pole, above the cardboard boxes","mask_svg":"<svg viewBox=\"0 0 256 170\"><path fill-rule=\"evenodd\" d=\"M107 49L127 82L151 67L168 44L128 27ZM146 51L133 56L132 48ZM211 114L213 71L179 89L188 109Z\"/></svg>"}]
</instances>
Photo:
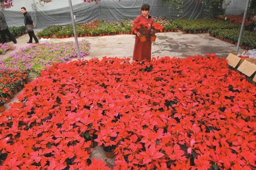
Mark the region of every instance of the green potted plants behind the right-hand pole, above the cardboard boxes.
<instances>
[{"instance_id":1,"label":"green potted plants behind the right-hand pole, above the cardboard boxes","mask_svg":"<svg viewBox=\"0 0 256 170\"><path fill-rule=\"evenodd\" d=\"M209 36L217 37L231 44L235 44L239 38L240 29L210 29ZM246 50L256 49L256 32L244 30L241 37L241 47Z\"/></svg>"}]
</instances>

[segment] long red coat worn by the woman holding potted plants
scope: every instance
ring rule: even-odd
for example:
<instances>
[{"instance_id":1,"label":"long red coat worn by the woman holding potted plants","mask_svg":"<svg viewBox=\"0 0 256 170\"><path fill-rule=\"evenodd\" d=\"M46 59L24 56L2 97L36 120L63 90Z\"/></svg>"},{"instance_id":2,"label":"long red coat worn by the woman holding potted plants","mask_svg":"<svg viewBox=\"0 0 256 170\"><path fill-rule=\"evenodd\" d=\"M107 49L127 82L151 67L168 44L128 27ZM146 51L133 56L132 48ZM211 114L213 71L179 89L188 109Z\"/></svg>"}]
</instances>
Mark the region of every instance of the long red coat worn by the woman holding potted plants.
<instances>
[{"instance_id":1,"label":"long red coat worn by the woman holding potted plants","mask_svg":"<svg viewBox=\"0 0 256 170\"><path fill-rule=\"evenodd\" d=\"M143 17L143 15L139 15L136 17L135 23L139 24L150 24L153 23L153 18L149 16L149 18ZM133 33L137 33L135 26L132 28ZM150 41L150 30L144 29L147 41L141 42L140 38L136 35L135 37L135 44L134 44L134 50L133 50L133 60L147 60L151 59L151 41Z\"/></svg>"}]
</instances>

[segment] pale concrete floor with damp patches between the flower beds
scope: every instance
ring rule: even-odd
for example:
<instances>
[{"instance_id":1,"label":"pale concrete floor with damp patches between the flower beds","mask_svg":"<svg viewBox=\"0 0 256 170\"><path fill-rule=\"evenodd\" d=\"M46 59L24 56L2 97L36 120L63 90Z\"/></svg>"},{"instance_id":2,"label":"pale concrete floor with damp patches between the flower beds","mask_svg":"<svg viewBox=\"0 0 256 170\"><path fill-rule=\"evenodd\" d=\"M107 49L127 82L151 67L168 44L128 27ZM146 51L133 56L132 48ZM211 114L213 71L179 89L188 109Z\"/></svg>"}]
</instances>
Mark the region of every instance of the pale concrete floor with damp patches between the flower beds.
<instances>
[{"instance_id":1,"label":"pale concrete floor with damp patches between the flower beds","mask_svg":"<svg viewBox=\"0 0 256 170\"><path fill-rule=\"evenodd\" d=\"M103 58L107 57L119 57L132 58L133 48L135 42L135 35L115 35L115 36L103 36L103 37L78 37L78 41L82 39L88 39L90 42L90 55L86 56L85 59L92 58ZM8 52L5 55L0 55L0 58L4 59L10 56L11 53L17 52L20 47L25 47L29 40L28 34L21 37L17 37L16 49ZM51 38L52 42L64 42L64 41L75 41L74 37L70 38ZM44 41L39 41L43 43ZM9 42L9 44L13 44ZM214 37L209 37L208 33L204 34L183 34L181 31L178 32L166 32L157 33L156 42L152 43L152 57L179 57L185 58L187 56L204 55L205 53L215 53L220 57L226 58L228 53L235 52L236 46L234 44L226 43ZM239 52L243 52L240 49ZM22 93L22 90L18 94ZM11 99L10 103L18 102L14 98ZM9 104L6 104L9 109ZM105 157L103 149L101 147L92 148L92 157L97 159L101 158L110 167L113 164L113 158L109 159Z\"/></svg>"}]
</instances>

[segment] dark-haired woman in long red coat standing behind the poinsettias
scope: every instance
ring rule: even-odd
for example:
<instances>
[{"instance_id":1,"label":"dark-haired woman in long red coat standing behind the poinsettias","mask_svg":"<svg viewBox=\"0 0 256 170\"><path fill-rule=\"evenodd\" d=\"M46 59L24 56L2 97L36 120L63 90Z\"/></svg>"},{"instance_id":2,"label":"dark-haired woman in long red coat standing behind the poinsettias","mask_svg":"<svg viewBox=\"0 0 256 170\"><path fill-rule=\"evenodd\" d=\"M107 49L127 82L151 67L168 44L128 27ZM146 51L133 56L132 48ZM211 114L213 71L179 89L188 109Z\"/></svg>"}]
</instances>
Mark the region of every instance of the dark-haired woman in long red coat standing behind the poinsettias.
<instances>
[{"instance_id":1,"label":"dark-haired woman in long red coat standing behind the poinsettias","mask_svg":"<svg viewBox=\"0 0 256 170\"><path fill-rule=\"evenodd\" d=\"M141 7L141 15L137 16L132 31L136 34L135 45L133 51L133 60L150 60L151 59L151 41L150 41L150 32L151 25L153 23L153 18L149 15L150 6L149 4L143 4ZM143 30L140 31L137 29L137 25L143 26ZM139 36L142 36L142 33L146 36L146 41L141 42Z\"/></svg>"}]
</instances>

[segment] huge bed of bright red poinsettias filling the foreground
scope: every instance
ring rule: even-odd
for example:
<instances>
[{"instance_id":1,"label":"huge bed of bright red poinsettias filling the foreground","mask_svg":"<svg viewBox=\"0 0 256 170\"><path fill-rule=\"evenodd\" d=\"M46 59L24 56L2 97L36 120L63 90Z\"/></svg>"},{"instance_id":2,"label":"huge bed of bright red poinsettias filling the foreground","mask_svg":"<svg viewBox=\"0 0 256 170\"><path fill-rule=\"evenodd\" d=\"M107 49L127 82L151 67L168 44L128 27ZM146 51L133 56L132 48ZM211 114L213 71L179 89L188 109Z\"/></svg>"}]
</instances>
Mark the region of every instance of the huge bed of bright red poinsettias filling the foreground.
<instances>
[{"instance_id":1,"label":"huge bed of bright red poinsettias filling the foreground","mask_svg":"<svg viewBox=\"0 0 256 170\"><path fill-rule=\"evenodd\" d=\"M215 55L55 64L0 117L0 169L254 170L256 88ZM96 138L93 138L96 137Z\"/></svg>"}]
</instances>

